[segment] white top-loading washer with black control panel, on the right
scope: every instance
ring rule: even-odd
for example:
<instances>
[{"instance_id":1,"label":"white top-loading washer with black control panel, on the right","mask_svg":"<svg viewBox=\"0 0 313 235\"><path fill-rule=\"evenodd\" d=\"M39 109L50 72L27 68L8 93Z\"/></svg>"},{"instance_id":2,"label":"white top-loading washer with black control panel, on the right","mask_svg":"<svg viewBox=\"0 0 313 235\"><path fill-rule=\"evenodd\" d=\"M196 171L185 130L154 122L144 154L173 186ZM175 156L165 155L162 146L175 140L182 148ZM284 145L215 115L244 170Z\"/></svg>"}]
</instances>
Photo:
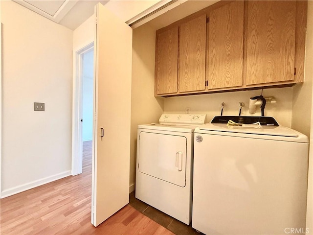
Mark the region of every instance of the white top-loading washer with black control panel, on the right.
<instances>
[{"instance_id":1,"label":"white top-loading washer with black control panel, on the right","mask_svg":"<svg viewBox=\"0 0 313 235\"><path fill-rule=\"evenodd\" d=\"M227 126L229 119L262 126ZM196 128L193 228L207 235L306 232L309 141L275 122L215 117Z\"/></svg>"}]
</instances>

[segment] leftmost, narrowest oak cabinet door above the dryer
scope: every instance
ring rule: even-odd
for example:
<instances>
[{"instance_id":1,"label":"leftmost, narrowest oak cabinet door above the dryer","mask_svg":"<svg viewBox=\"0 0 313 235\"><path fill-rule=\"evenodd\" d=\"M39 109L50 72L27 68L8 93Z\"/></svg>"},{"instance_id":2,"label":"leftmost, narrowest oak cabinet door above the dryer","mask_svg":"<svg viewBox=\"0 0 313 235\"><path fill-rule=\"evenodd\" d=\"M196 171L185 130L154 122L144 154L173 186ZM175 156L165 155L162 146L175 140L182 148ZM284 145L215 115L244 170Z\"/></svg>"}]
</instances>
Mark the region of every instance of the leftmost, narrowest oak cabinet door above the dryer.
<instances>
[{"instance_id":1,"label":"leftmost, narrowest oak cabinet door above the dryer","mask_svg":"<svg viewBox=\"0 0 313 235\"><path fill-rule=\"evenodd\" d=\"M156 36L156 94L177 93L178 27Z\"/></svg>"}]
</instances>

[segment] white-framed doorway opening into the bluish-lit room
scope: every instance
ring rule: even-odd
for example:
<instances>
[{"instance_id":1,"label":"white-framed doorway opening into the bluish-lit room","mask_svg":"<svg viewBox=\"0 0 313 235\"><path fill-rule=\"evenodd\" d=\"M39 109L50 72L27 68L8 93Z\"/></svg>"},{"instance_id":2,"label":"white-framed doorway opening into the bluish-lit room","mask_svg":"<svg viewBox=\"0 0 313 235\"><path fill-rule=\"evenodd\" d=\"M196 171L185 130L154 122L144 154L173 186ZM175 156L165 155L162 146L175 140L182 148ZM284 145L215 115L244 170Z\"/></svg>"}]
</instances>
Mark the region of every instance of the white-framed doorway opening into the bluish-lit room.
<instances>
[{"instance_id":1,"label":"white-framed doorway opening into the bluish-lit room","mask_svg":"<svg viewBox=\"0 0 313 235\"><path fill-rule=\"evenodd\" d=\"M92 146L93 42L74 52L72 175L83 171L83 147Z\"/></svg>"}]
</instances>

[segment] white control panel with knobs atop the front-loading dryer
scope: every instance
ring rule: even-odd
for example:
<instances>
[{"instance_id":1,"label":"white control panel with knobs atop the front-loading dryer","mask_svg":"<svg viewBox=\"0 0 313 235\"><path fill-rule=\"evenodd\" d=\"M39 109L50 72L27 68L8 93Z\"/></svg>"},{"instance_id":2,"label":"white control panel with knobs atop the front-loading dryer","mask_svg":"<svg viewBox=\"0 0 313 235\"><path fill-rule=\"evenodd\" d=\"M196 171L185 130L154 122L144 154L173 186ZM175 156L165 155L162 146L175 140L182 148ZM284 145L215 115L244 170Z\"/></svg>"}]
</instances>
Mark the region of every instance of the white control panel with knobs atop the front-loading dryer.
<instances>
[{"instance_id":1,"label":"white control panel with knobs atop the front-loading dryer","mask_svg":"<svg viewBox=\"0 0 313 235\"><path fill-rule=\"evenodd\" d=\"M201 125L205 123L206 114L162 114L160 124Z\"/></svg>"}]
</instances>

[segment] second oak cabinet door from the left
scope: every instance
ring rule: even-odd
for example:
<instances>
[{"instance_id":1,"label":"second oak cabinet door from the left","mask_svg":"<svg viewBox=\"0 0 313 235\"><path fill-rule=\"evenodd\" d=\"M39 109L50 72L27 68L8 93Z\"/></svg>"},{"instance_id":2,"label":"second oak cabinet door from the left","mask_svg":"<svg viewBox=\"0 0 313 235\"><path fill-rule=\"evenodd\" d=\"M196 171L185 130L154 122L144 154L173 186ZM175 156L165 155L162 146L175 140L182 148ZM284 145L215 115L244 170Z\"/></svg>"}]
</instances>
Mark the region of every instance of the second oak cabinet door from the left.
<instances>
[{"instance_id":1,"label":"second oak cabinet door from the left","mask_svg":"<svg viewBox=\"0 0 313 235\"><path fill-rule=\"evenodd\" d=\"M205 89L206 15L180 26L179 92Z\"/></svg>"}]
</instances>

